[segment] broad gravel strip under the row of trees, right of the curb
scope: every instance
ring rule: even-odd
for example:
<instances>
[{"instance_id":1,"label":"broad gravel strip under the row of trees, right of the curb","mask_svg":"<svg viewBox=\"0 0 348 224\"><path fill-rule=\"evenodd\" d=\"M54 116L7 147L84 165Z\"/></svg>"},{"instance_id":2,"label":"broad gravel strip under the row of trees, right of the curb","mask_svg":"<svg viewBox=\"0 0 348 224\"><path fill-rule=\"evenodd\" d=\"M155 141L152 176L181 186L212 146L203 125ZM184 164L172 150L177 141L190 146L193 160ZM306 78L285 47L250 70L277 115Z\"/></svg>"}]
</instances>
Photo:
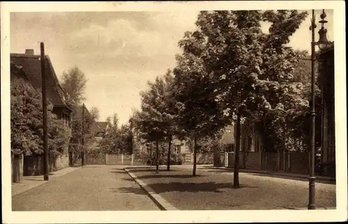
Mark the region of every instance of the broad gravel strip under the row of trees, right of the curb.
<instances>
[{"instance_id":1,"label":"broad gravel strip under the row of trees, right of the curb","mask_svg":"<svg viewBox=\"0 0 348 224\"><path fill-rule=\"evenodd\" d=\"M228 170L198 168L192 176L191 166L129 168L156 193L182 210L224 209L294 209L308 205L308 182L294 179L239 173L240 189L232 188ZM316 184L317 207L335 207L335 184Z\"/></svg>"}]
</instances>

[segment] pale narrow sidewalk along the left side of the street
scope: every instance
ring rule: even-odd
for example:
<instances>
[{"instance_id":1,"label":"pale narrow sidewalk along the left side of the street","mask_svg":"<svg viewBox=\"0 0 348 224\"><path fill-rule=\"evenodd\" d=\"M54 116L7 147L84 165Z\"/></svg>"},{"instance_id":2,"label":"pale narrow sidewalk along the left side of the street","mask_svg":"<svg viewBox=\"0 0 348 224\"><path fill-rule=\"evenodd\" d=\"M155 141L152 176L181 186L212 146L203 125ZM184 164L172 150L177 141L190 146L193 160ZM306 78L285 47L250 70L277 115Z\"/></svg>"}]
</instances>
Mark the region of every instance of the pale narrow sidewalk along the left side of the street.
<instances>
[{"instance_id":1,"label":"pale narrow sidewalk along the left side of the street","mask_svg":"<svg viewBox=\"0 0 348 224\"><path fill-rule=\"evenodd\" d=\"M49 173L49 179L52 177L60 177L65 174L71 173L74 170L77 170L81 167L67 167L61 170L54 171ZM36 186L40 186L42 184L47 183L47 181L43 180L43 175L41 176L24 176L22 182L12 183L12 196L17 195L19 193L23 193L24 191L28 191L29 189L33 189Z\"/></svg>"}]
</instances>

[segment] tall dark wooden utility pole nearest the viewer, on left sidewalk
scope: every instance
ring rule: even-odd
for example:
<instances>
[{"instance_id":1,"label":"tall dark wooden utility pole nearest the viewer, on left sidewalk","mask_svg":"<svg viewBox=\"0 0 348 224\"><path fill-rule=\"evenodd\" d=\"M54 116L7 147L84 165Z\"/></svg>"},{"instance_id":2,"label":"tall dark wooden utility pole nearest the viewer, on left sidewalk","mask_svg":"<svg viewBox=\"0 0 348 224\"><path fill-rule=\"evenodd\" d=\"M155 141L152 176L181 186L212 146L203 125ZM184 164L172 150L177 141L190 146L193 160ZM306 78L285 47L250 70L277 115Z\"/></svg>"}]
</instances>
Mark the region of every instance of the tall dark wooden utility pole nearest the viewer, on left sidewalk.
<instances>
[{"instance_id":1,"label":"tall dark wooden utility pole nearest the viewer, on left sidewalk","mask_svg":"<svg viewBox=\"0 0 348 224\"><path fill-rule=\"evenodd\" d=\"M47 99L46 99L46 74L45 74L45 46L40 43L41 50L41 80L42 80L42 118L43 118L43 151L44 151L44 180L49 179L49 152L47 142Z\"/></svg>"}]
</instances>

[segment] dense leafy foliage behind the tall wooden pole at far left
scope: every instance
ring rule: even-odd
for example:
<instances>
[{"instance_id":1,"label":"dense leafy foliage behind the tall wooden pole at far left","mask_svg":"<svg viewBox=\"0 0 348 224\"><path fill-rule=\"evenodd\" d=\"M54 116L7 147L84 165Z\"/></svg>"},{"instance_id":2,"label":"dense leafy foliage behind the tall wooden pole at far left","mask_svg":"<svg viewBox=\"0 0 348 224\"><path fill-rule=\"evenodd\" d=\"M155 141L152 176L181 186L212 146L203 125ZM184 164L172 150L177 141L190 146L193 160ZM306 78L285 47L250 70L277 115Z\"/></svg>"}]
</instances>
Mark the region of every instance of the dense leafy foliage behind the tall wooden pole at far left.
<instances>
[{"instance_id":1,"label":"dense leafy foliage behind the tall wooden pole at far left","mask_svg":"<svg viewBox=\"0 0 348 224\"><path fill-rule=\"evenodd\" d=\"M11 80L11 152L14 155L43 153L42 95L22 79ZM65 153L70 135L63 120L47 106L47 140L49 156L54 159Z\"/></svg>"}]
</instances>

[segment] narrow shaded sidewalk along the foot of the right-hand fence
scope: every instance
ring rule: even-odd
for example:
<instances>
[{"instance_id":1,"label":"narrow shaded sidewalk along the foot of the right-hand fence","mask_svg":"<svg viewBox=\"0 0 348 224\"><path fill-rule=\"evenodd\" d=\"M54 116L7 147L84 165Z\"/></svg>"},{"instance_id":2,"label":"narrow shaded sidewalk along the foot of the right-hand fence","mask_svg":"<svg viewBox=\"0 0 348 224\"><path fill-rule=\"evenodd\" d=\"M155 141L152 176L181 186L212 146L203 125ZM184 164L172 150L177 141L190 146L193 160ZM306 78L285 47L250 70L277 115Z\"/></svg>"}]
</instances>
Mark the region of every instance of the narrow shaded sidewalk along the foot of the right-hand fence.
<instances>
[{"instance_id":1,"label":"narrow shaded sidewalk along the foot of the right-hand fence","mask_svg":"<svg viewBox=\"0 0 348 224\"><path fill-rule=\"evenodd\" d=\"M205 165L205 166L202 166L202 168L217 169L217 170L233 170L233 168L230 168L230 167L215 167L213 165ZM277 171L269 171L269 170L239 169L239 173L258 173L258 174L273 176L273 177L293 177L296 179L308 180L308 175L303 175L299 173L287 173L284 171L277 172ZM330 184L335 184L336 182L335 177L315 176L315 178L319 181L328 182Z\"/></svg>"}]
</instances>

